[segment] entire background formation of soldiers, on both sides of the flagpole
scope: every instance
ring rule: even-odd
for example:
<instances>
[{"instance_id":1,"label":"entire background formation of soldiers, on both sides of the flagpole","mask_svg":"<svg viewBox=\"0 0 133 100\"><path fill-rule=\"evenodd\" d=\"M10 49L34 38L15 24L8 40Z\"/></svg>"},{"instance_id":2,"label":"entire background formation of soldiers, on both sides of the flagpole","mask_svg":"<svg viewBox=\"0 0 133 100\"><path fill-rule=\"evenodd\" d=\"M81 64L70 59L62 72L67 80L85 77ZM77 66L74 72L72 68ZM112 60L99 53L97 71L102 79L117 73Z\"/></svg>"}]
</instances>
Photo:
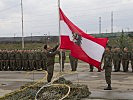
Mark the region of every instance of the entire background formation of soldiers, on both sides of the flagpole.
<instances>
[{"instance_id":1,"label":"entire background formation of soldiers, on both sides of the flagpole","mask_svg":"<svg viewBox=\"0 0 133 100\"><path fill-rule=\"evenodd\" d=\"M58 53L59 54L59 53ZM59 54L60 59L60 54ZM66 55L62 52L62 71L64 70ZM76 71L78 59L69 55L72 71ZM123 51L116 47L112 49L112 62L114 71L120 71L121 62L123 71L127 72L131 61L133 71L133 49L128 51L124 48ZM46 69L46 52L43 50L0 50L0 70L37 70ZM90 72L93 71L93 66L90 65ZM100 70L98 70L100 71Z\"/></svg>"}]
</instances>

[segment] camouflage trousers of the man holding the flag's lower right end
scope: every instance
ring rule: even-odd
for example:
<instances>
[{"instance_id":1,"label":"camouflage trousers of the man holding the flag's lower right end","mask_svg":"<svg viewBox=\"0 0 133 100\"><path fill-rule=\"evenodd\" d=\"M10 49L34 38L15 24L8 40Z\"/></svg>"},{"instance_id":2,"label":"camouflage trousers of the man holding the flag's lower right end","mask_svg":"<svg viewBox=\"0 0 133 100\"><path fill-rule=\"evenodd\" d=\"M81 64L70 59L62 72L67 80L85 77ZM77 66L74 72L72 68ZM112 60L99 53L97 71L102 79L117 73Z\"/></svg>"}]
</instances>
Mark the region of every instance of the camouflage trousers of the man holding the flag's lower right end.
<instances>
[{"instance_id":1,"label":"camouflage trousers of the man holding the flag's lower right end","mask_svg":"<svg viewBox=\"0 0 133 100\"><path fill-rule=\"evenodd\" d=\"M107 84L111 84L112 67L105 67L105 80Z\"/></svg>"}]
</instances>

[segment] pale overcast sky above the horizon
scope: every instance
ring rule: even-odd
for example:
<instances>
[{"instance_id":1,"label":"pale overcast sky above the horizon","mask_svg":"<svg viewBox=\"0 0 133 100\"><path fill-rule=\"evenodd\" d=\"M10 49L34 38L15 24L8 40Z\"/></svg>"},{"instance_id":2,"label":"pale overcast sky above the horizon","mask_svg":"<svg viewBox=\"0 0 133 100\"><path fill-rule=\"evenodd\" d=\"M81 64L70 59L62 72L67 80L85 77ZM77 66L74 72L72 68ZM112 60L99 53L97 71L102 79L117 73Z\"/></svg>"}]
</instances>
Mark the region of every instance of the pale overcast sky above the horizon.
<instances>
[{"instance_id":1,"label":"pale overcast sky above the horizon","mask_svg":"<svg viewBox=\"0 0 133 100\"><path fill-rule=\"evenodd\" d=\"M57 0L23 0L24 36L58 35ZM133 0L61 0L66 16L87 33L98 33L99 17L102 32L133 31ZM0 37L21 36L20 0L0 0Z\"/></svg>"}]
</instances>

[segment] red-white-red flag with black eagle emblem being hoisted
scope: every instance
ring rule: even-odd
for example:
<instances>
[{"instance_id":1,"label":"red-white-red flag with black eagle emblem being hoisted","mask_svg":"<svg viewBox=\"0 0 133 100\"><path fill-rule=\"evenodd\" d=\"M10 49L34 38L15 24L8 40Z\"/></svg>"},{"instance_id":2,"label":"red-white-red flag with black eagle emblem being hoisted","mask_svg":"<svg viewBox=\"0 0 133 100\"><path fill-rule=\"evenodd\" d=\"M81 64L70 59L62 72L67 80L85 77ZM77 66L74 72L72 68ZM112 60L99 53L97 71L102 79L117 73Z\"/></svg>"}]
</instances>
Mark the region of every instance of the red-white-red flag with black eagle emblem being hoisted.
<instances>
[{"instance_id":1,"label":"red-white-red flag with black eagle emblem being hoisted","mask_svg":"<svg viewBox=\"0 0 133 100\"><path fill-rule=\"evenodd\" d=\"M108 42L107 38L95 38L74 25L60 11L60 49L71 51L71 55L100 69L101 59Z\"/></svg>"}]
</instances>

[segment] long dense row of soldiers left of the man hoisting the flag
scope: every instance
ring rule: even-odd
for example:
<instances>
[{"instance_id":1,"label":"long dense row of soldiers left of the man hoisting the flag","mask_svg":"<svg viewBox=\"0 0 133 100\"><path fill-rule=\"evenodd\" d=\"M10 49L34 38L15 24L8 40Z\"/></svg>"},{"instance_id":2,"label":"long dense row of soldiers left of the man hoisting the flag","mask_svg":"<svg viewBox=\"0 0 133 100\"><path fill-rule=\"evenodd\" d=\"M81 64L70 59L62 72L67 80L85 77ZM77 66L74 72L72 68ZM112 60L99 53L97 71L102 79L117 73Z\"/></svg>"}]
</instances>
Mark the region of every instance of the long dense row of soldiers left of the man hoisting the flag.
<instances>
[{"instance_id":1,"label":"long dense row of soldiers left of the man hoisting the flag","mask_svg":"<svg viewBox=\"0 0 133 100\"><path fill-rule=\"evenodd\" d=\"M0 70L45 69L46 54L40 50L0 50Z\"/></svg>"}]
</instances>

